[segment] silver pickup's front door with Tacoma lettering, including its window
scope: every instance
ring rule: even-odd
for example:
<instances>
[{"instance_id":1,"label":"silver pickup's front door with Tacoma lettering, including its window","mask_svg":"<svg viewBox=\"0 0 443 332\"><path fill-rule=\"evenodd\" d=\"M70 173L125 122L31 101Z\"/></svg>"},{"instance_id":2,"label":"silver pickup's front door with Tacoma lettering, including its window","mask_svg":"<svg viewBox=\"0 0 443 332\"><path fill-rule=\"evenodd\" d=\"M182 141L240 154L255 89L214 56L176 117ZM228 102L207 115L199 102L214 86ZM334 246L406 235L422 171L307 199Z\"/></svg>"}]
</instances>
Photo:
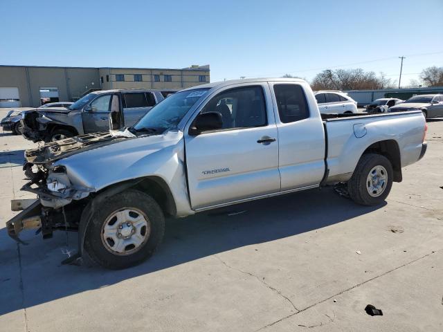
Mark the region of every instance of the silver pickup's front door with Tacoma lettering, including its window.
<instances>
[{"instance_id":1,"label":"silver pickup's front door with Tacoma lettering, including its window","mask_svg":"<svg viewBox=\"0 0 443 332\"><path fill-rule=\"evenodd\" d=\"M217 111L222 129L190 136L197 113ZM186 126L185 147L193 209L280 191L278 137L267 84L227 87Z\"/></svg>"}]
</instances>

